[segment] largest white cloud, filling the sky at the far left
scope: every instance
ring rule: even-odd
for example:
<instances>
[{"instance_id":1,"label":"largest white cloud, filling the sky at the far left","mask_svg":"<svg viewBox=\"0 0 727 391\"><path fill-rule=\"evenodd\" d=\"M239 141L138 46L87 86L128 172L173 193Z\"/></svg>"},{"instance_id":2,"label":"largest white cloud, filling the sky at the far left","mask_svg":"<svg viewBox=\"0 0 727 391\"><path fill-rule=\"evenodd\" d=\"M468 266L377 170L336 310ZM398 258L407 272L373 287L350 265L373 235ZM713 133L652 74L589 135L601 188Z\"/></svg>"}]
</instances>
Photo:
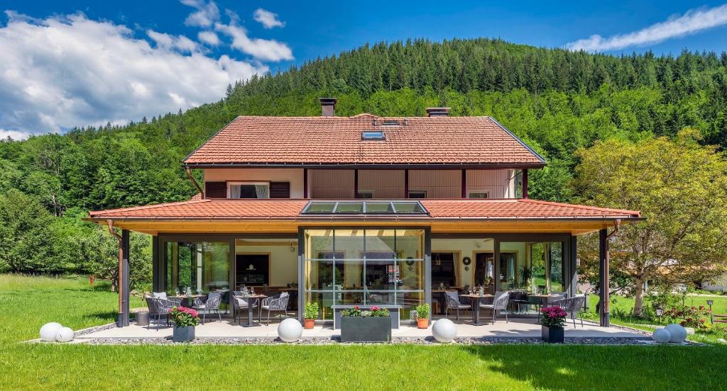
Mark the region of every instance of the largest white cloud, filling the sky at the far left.
<instances>
[{"instance_id":1,"label":"largest white cloud, filling the sky at the far left","mask_svg":"<svg viewBox=\"0 0 727 391\"><path fill-rule=\"evenodd\" d=\"M206 57L188 38L164 33L151 34L153 47L124 25L84 15L7 15L0 26L0 136L186 110L217 101L228 83L268 70L226 55Z\"/></svg>"}]
</instances>

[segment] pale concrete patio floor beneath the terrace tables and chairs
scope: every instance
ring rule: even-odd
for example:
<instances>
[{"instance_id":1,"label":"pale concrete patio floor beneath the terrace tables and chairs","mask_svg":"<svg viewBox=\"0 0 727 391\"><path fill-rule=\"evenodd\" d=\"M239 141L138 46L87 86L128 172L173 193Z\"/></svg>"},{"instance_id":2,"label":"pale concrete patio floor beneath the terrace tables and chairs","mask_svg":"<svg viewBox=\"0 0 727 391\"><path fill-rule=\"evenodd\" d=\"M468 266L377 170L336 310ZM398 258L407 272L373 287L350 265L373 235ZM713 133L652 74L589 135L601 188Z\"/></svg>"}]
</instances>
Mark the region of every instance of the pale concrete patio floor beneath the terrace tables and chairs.
<instances>
[{"instance_id":1,"label":"pale concrete patio floor beneath the terrace tables and chairs","mask_svg":"<svg viewBox=\"0 0 727 391\"><path fill-rule=\"evenodd\" d=\"M511 318L509 323L504 319L495 324L484 324L475 326L467 321L455 321L457 324L457 337L477 338L537 338L540 337L540 325L536 324L535 318ZM163 322L164 323L164 322ZM264 338L278 336L278 322L270 322L270 326L243 327L230 318L222 318L222 321L215 319L200 324L195 330L198 338ZM332 324L316 325L314 329L304 329L302 338L334 337L340 336L340 330L334 330ZM164 338L172 335L172 327L166 324L159 329L153 326L137 326L132 324L123 328L111 328L82 334L76 337L76 342L83 342L91 339L142 339L142 338ZM392 330L393 338L406 337L429 337L432 335L431 326L428 329L417 329L414 324L402 324L399 329ZM598 324L584 321L584 326L578 322L574 328L573 323L566 325L566 338L643 338L642 334L629 332L614 327L601 327Z\"/></svg>"}]
</instances>

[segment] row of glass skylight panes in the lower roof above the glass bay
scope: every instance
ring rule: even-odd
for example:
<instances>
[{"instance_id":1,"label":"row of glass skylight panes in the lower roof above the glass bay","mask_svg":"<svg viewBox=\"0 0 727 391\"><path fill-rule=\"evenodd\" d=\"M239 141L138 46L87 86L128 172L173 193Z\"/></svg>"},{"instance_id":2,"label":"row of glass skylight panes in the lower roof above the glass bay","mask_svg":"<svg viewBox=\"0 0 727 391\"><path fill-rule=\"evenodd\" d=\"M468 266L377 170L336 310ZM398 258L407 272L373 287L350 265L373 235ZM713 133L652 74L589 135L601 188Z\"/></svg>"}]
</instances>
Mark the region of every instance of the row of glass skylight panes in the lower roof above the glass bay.
<instances>
[{"instance_id":1,"label":"row of glass skylight panes in the lower roof above the glass bay","mask_svg":"<svg viewBox=\"0 0 727 391\"><path fill-rule=\"evenodd\" d=\"M304 215L425 215L427 210L419 201L309 201Z\"/></svg>"}]
</instances>

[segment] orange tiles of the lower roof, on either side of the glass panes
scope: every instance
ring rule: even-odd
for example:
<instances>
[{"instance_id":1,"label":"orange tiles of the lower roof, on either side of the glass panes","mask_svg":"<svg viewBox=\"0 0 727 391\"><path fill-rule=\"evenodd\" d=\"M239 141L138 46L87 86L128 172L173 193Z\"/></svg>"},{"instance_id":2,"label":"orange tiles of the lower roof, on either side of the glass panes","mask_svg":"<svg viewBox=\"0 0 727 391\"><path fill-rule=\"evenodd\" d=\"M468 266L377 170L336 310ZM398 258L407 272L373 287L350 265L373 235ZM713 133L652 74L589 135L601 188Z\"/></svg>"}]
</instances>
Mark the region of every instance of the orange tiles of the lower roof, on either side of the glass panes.
<instances>
[{"instance_id":1,"label":"orange tiles of the lower roof, on either side of the glass panes","mask_svg":"<svg viewBox=\"0 0 727 391\"><path fill-rule=\"evenodd\" d=\"M103 220L236 220L270 219L301 221L315 216L300 215L307 199L193 199L185 202L128 207L89 212L89 218ZM615 219L640 218L633 210L616 210L585 205L560 204L532 199L423 199L428 216L417 219ZM338 217L338 216L337 216ZM345 219L350 216L340 216ZM355 217L355 216L353 216ZM386 218L387 216L379 216ZM392 217L392 216L388 216Z\"/></svg>"}]
</instances>

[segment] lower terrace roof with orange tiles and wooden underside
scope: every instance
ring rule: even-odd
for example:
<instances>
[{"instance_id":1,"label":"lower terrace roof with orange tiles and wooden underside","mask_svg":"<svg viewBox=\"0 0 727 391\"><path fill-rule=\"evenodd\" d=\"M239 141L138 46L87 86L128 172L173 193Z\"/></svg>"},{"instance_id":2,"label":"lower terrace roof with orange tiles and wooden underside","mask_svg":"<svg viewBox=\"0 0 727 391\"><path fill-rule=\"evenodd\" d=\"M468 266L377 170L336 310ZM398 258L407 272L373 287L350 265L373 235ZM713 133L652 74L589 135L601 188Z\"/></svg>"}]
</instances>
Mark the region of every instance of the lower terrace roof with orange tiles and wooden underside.
<instances>
[{"instance_id":1,"label":"lower terrace roof with orange tiles and wooden underside","mask_svg":"<svg viewBox=\"0 0 727 391\"><path fill-rule=\"evenodd\" d=\"M326 200L316 200L325 202ZM405 200L401 200L405 201ZM337 202L330 201L329 202ZM371 200L375 202L375 200ZM411 199L406 202L412 202ZM427 213L308 214L307 199L192 199L89 212L89 221L148 234L294 233L299 226L430 226L433 232L571 232L635 221L640 213L533 199L422 199Z\"/></svg>"}]
</instances>

